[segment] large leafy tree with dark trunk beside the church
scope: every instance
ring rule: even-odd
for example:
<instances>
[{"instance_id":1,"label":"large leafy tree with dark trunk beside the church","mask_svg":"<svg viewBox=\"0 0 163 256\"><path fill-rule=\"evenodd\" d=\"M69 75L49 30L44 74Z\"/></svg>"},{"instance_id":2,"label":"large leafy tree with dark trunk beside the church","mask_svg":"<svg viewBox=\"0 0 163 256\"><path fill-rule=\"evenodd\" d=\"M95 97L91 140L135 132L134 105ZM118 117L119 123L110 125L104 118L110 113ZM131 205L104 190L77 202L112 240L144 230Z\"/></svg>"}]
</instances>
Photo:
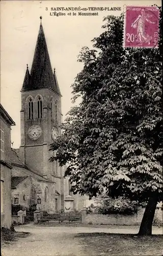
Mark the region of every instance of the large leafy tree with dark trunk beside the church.
<instances>
[{"instance_id":1,"label":"large leafy tree with dark trunk beside the church","mask_svg":"<svg viewBox=\"0 0 163 256\"><path fill-rule=\"evenodd\" d=\"M50 161L67 165L74 193L147 201L139 234L151 234L162 192L162 41L158 49L124 49L123 16L104 22L94 50L79 54L84 68L72 89L81 102L62 124Z\"/></svg>"}]
</instances>

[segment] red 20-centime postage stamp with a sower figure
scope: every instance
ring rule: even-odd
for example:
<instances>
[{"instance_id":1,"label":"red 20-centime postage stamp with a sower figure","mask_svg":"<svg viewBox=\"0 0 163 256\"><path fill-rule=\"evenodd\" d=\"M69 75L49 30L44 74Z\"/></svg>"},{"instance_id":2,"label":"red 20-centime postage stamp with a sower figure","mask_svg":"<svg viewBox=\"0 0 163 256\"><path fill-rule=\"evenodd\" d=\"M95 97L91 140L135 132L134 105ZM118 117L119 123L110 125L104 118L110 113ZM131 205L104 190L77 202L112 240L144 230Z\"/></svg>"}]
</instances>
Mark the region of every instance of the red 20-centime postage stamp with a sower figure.
<instances>
[{"instance_id":1,"label":"red 20-centime postage stamp with a sower figure","mask_svg":"<svg viewBox=\"0 0 163 256\"><path fill-rule=\"evenodd\" d=\"M124 47L158 48L159 9L155 6L126 6Z\"/></svg>"}]
</instances>

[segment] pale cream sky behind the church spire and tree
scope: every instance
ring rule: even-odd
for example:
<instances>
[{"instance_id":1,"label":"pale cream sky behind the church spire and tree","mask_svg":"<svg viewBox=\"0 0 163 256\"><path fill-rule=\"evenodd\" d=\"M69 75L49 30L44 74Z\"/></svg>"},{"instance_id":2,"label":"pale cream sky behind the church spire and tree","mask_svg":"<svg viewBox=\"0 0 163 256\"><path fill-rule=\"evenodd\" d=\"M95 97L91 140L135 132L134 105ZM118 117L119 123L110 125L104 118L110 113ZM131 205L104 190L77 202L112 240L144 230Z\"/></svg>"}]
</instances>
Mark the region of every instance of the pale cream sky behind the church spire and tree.
<instances>
[{"instance_id":1,"label":"pale cream sky behind the church spire and tree","mask_svg":"<svg viewBox=\"0 0 163 256\"><path fill-rule=\"evenodd\" d=\"M77 55L83 46L92 47L91 40L100 35L104 16L118 16L123 6L161 5L159 0L130 1L1 1L1 103L16 126L12 127L11 141L20 146L21 94L26 63L29 70L33 61L40 26L45 33L52 69L56 68L62 97L62 113L70 110L71 84L82 63ZM50 16L51 7L121 7L122 11L99 11L98 16ZM45 8L48 8L48 11ZM68 13L68 12L66 12Z\"/></svg>"}]
</instances>

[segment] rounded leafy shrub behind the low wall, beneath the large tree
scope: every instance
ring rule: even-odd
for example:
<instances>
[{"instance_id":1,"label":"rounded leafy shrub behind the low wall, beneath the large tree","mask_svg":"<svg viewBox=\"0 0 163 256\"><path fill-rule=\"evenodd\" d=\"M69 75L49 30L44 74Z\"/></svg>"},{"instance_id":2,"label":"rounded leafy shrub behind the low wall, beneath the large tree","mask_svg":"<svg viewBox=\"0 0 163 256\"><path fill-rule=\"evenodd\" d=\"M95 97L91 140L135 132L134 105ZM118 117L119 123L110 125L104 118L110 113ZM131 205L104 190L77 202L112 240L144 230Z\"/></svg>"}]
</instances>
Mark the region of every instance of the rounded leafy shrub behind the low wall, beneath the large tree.
<instances>
[{"instance_id":1,"label":"rounded leafy shrub behind the low wall, beneath the large tree","mask_svg":"<svg viewBox=\"0 0 163 256\"><path fill-rule=\"evenodd\" d=\"M122 214L132 215L138 211L138 202L130 201L123 197L112 199L105 197L101 200L99 206L97 206L98 213L100 214Z\"/></svg>"}]
</instances>

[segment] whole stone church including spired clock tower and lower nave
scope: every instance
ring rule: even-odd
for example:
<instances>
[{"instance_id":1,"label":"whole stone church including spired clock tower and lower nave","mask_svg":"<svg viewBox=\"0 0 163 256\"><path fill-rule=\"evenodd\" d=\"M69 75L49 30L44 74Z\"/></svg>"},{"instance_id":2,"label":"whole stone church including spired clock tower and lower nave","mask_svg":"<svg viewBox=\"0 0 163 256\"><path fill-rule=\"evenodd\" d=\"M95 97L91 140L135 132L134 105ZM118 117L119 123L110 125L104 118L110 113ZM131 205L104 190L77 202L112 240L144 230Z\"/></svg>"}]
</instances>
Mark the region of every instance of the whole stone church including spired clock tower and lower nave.
<instances>
[{"instance_id":1,"label":"whole stone church including spired clock tower and lower nave","mask_svg":"<svg viewBox=\"0 0 163 256\"><path fill-rule=\"evenodd\" d=\"M50 144L61 135L61 97L40 24L31 71L27 66L21 88L21 145L11 150L14 205L37 204L37 209L55 212L65 210L65 204L70 210L85 206L83 197L69 195L65 168L58 161L49 162L54 154Z\"/></svg>"}]
</instances>

